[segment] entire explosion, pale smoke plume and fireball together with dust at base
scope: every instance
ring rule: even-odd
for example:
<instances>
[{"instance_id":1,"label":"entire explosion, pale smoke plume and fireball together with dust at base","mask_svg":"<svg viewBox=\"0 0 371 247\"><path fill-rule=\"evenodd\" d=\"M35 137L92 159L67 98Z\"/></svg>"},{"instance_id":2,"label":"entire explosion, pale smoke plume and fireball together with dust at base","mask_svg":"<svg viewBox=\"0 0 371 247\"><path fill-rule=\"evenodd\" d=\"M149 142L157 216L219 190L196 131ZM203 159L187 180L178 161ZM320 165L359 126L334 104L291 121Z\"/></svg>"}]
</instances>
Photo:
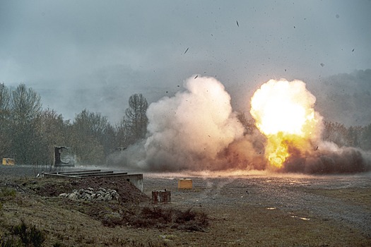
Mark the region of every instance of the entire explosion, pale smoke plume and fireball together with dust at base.
<instances>
[{"instance_id":1,"label":"entire explosion, pale smoke plume and fireball together with dust at base","mask_svg":"<svg viewBox=\"0 0 371 247\"><path fill-rule=\"evenodd\" d=\"M251 100L260 132L247 134L222 83L192 76L182 92L148 107L146 140L112 162L146 171L369 171L371 159L362 150L322 140L315 101L300 80L269 80Z\"/></svg>"}]
</instances>

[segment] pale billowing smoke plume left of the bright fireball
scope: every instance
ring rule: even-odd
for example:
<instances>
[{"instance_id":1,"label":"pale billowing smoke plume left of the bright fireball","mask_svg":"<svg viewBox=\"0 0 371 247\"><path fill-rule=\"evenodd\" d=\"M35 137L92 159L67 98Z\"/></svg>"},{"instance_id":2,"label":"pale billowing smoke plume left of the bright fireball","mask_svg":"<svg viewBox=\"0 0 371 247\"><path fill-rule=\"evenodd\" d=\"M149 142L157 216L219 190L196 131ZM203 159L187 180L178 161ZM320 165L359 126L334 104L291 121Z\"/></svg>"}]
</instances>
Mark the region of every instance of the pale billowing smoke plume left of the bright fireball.
<instances>
[{"instance_id":1,"label":"pale billowing smoke plume left of the bright fireball","mask_svg":"<svg viewBox=\"0 0 371 247\"><path fill-rule=\"evenodd\" d=\"M148 138L119 158L127 167L216 170L241 164L228 162L238 149L231 144L238 141L241 147L252 148L252 143L243 140L244 127L232 112L223 84L215 78L193 76L183 86L184 91L148 107Z\"/></svg>"}]
</instances>

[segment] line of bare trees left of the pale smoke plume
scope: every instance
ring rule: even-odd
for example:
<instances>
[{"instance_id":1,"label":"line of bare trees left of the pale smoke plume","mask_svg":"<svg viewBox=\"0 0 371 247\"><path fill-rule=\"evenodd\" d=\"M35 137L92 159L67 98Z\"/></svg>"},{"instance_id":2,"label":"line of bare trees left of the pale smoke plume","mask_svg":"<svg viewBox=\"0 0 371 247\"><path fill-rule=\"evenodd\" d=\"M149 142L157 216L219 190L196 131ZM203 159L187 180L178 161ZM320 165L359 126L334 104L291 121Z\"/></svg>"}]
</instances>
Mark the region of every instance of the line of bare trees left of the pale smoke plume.
<instances>
[{"instance_id":1,"label":"line of bare trees left of the pale smoke plume","mask_svg":"<svg viewBox=\"0 0 371 247\"><path fill-rule=\"evenodd\" d=\"M117 147L127 147L144 138L148 102L141 94L129 97L129 108L116 125L107 116L83 109L73 121L64 120L54 109L42 109L41 97L20 84L10 90L0 83L0 157L17 164L49 165L54 147L69 147L78 164L105 164Z\"/></svg>"}]
</instances>

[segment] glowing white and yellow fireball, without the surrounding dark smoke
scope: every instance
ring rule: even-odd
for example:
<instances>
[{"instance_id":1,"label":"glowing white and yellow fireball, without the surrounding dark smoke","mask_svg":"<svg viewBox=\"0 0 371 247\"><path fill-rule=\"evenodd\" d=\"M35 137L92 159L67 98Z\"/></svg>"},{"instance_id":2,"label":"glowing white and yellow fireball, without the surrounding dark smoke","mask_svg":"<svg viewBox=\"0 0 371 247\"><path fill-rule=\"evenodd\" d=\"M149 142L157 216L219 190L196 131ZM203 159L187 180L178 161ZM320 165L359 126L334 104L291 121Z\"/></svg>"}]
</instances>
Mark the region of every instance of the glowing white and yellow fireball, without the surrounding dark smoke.
<instances>
[{"instance_id":1,"label":"glowing white and yellow fireball, without the surrounding dark smoke","mask_svg":"<svg viewBox=\"0 0 371 247\"><path fill-rule=\"evenodd\" d=\"M292 147L313 148L322 124L313 109L315 101L300 80L269 80L254 93L250 114L267 138L265 157L271 166L281 168Z\"/></svg>"}]
</instances>

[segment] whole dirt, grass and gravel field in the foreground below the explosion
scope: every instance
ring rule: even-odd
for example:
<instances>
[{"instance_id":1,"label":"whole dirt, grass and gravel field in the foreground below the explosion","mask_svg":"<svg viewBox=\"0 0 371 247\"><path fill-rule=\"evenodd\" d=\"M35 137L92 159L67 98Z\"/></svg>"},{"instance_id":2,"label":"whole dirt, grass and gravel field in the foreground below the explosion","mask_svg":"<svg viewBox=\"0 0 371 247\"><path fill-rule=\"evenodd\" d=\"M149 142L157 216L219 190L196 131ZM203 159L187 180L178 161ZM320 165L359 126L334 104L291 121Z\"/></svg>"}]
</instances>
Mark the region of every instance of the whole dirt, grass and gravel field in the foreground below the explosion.
<instances>
[{"instance_id":1,"label":"whole dirt, grass and gravel field in the foreground below the explosion","mask_svg":"<svg viewBox=\"0 0 371 247\"><path fill-rule=\"evenodd\" d=\"M371 246L371 174L143 174L143 193L126 181L36 179L28 167L0 174L3 242L23 221L46 236L42 246ZM178 190L186 176L193 189ZM111 187L122 200L58 197L88 187ZM152 205L151 192L165 188L171 203ZM159 212L195 218L166 223Z\"/></svg>"}]
</instances>

